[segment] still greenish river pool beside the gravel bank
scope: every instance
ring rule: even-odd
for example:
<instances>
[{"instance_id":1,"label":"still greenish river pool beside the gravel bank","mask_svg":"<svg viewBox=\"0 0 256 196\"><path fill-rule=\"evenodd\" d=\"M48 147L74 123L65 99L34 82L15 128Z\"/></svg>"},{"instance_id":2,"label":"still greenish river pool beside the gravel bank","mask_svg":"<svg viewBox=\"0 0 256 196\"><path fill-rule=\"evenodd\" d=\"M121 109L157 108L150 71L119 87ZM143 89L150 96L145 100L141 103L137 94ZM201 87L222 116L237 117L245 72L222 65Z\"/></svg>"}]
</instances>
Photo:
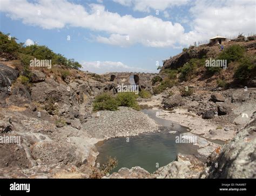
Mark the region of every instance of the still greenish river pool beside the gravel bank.
<instances>
[{"instance_id":1,"label":"still greenish river pool beside the gravel bank","mask_svg":"<svg viewBox=\"0 0 256 196\"><path fill-rule=\"evenodd\" d=\"M111 138L99 142L96 146L99 151L96 163L103 164L107 157L116 157L118 166L111 171L117 172L121 167L131 168L134 166L143 167L149 172L154 172L158 167L164 166L176 159L177 153L198 156L198 147L192 144L181 144L175 142L175 137L187 128L171 121L160 119L156 111L152 109L142 110L145 114L156 120L163 127L161 132L144 133L138 136ZM177 131L170 134L170 130Z\"/></svg>"}]
</instances>

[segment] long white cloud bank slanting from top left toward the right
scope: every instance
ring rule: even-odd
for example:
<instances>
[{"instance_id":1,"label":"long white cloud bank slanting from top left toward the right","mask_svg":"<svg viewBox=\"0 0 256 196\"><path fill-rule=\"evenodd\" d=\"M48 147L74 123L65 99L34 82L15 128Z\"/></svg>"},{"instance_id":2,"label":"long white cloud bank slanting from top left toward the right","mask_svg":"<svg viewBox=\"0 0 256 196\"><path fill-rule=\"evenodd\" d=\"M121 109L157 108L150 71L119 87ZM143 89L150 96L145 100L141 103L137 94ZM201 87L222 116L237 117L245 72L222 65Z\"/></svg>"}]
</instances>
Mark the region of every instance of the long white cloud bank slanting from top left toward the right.
<instances>
[{"instance_id":1,"label":"long white cloud bank slanting from top left toward the right","mask_svg":"<svg viewBox=\"0 0 256 196\"><path fill-rule=\"evenodd\" d=\"M25 24L41 26L43 29L75 26L104 31L110 36L96 36L96 40L120 46L134 43L152 47L173 46L184 33L183 26L178 23L165 22L154 16L120 16L118 13L105 11L104 6L99 4L90 4L89 12L86 12L82 5L64 0L41 0L38 4L25 0L20 0L19 3L6 0L0 10L7 12L12 19L22 19ZM126 36L129 36L129 41Z\"/></svg>"}]
</instances>

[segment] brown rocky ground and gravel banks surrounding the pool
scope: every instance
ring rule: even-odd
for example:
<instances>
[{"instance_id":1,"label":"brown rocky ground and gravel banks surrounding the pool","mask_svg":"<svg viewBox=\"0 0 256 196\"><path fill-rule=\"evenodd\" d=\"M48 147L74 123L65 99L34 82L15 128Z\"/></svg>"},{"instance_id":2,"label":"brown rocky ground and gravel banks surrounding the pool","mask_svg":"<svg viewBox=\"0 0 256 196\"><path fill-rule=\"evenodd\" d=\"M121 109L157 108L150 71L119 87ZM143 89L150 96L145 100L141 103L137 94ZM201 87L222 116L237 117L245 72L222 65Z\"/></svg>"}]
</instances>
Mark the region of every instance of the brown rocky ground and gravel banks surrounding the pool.
<instances>
[{"instance_id":1,"label":"brown rocky ground and gravel banks surrounding the pool","mask_svg":"<svg viewBox=\"0 0 256 196\"><path fill-rule=\"evenodd\" d=\"M240 44L255 54L255 40ZM161 72L183 66L191 58L219 53L215 46L189 51L166 60ZM53 65L51 71L31 68L28 82L18 64L13 59L0 61L0 135L20 138L20 144L0 143L1 178L89 178L98 155L97 142L158 131L158 124L142 111L92 110L97 95L117 93L117 83L109 78L76 69L68 69L65 75L66 68ZM199 75L150 99L138 98L140 106L161 108L159 118L188 127L185 135L198 137L194 145L207 162L178 154L174 162L154 173L136 166L103 178L255 178L254 78L246 88L221 88L214 77L202 80ZM191 95L180 91L186 87L193 89Z\"/></svg>"}]
</instances>

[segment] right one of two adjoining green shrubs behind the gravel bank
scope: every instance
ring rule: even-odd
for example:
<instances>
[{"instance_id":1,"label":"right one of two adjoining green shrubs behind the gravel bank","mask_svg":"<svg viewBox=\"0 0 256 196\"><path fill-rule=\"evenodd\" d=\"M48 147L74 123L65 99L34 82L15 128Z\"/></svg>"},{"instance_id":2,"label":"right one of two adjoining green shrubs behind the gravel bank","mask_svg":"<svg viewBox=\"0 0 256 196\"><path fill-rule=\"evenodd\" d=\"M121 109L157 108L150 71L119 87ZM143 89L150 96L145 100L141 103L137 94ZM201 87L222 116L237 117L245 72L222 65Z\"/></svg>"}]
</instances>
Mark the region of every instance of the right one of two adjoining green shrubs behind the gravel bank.
<instances>
[{"instance_id":1,"label":"right one of two adjoining green shrubs behind the gravel bank","mask_svg":"<svg viewBox=\"0 0 256 196\"><path fill-rule=\"evenodd\" d=\"M134 93L126 92L126 93L118 93L116 100L118 103L118 106L125 106L130 107L136 110L139 110L139 105L136 101L138 96L136 96Z\"/></svg>"}]
</instances>

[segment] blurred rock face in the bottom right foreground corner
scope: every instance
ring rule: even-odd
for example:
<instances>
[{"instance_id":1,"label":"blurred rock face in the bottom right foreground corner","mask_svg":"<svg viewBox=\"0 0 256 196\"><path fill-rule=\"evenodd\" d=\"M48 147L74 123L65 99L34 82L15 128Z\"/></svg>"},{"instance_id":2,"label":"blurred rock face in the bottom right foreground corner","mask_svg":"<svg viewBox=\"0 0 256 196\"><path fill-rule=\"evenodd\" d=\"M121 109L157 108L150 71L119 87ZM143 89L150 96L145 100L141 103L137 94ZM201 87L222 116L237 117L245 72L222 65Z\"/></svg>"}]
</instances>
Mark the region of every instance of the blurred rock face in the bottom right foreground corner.
<instances>
[{"instance_id":1,"label":"blurred rock face in the bottom right foreground corner","mask_svg":"<svg viewBox=\"0 0 256 196\"><path fill-rule=\"evenodd\" d=\"M230 143L214 151L206 178L256 178L256 120L238 132Z\"/></svg>"}]
</instances>

